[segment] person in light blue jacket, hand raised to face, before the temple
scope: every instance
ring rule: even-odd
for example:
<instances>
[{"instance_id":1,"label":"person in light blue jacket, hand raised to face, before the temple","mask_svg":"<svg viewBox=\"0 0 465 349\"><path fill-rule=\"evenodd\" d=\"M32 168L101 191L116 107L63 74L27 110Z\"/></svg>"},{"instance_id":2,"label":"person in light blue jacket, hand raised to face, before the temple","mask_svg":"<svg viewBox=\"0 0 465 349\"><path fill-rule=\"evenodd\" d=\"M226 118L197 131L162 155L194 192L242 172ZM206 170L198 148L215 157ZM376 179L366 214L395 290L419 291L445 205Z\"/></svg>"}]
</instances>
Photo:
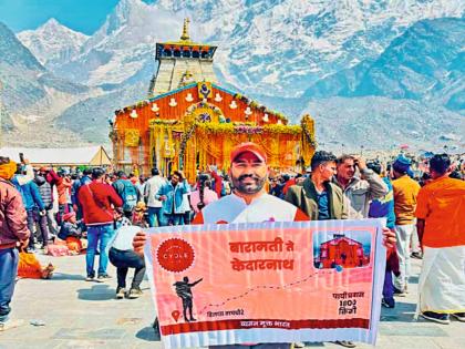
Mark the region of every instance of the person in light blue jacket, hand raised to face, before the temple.
<instances>
[{"instance_id":1,"label":"person in light blue jacket, hand raised to face, before the temple","mask_svg":"<svg viewBox=\"0 0 465 349\"><path fill-rule=\"evenodd\" d=\"M189 184L180 171L175 171L169 182L165 183L155 195L163 202L161 226L179 225L183 222L183 195L189 192Z\"/></svg>"}]
</instances>

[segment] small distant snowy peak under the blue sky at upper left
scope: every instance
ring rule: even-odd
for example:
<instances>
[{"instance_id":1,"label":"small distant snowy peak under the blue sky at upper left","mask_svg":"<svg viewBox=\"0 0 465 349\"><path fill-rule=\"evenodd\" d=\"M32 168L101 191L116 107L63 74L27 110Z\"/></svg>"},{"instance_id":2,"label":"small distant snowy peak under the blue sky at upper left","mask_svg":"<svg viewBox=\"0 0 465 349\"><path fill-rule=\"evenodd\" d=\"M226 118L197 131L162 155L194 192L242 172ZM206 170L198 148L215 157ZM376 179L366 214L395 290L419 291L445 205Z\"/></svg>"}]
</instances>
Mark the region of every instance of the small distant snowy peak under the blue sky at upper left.
<instances>
[{"instance_id":1,"label":"small distant snowy peak under the blue sky at upper left","mask_svg":"<svg viewBox=\"0 0 465 349\"><path fill-rule=\"evenodd\" d=\"M40 63L52 71L76 57L89 39L87 35L60 24L53 18L35 30L20 32L18 38Z\"/></svg>"}]
</instances>

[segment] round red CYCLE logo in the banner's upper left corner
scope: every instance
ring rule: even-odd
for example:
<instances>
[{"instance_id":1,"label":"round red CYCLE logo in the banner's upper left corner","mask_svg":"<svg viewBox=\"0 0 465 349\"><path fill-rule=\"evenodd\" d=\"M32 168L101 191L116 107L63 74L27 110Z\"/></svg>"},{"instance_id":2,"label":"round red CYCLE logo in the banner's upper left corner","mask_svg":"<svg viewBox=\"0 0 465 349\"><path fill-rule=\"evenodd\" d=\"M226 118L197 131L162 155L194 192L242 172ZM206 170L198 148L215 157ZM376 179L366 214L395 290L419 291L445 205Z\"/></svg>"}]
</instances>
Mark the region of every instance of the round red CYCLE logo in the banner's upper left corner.
<instances>
[{"instance_id":1,"label":"round red CYCLE logo in the banner's upper left corner","mask_svg":"<svg viewBox=\"0 0 465 349\"><path fill-rule=\"evenodd\" d=\"M156 252L158 265L170 273L182 273L194 264L194 248L182 238L164 240Z\"/></svg>"}]
</instances>

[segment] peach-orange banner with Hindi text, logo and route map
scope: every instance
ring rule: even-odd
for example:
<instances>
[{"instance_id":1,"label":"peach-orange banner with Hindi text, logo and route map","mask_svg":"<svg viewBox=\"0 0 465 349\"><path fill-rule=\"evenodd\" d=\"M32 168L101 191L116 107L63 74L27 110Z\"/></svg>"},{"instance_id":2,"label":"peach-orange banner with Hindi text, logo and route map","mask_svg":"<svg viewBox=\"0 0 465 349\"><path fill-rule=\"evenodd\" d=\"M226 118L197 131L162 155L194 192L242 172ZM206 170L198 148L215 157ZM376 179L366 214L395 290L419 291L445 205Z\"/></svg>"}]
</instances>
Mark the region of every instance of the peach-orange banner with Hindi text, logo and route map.
<instances>
[{"instance_id":1,"label":"peach-orange banner with Hindi text, logo and route map","mask_svg":"<svg viewBox=\"0 0 465 349\"><path fill-rule=\"evenodd\" d=\"M385 267L382 222L147 230L153 233L148 274L165 347L374 343Z\"/></svg>"}]
</instances>

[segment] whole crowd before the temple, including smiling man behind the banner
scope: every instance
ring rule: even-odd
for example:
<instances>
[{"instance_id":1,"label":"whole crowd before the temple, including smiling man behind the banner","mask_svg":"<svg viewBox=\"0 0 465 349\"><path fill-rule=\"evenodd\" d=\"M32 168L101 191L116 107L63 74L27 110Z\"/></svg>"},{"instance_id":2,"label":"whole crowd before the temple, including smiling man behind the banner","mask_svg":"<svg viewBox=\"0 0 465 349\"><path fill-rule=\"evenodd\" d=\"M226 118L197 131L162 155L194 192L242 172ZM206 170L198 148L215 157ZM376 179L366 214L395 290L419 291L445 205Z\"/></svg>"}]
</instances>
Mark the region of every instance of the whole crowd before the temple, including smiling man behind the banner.
<instances>
[{"instance_id":1,"label":"whole crowd before the temple, including smiling man behind the banner","mask_svg":"<svg viewBox=\"0 0 465 349\"><path fill-rule=\"evenodd\" d=\"M386 218L382 305L393 308L394 297L409 292L411 258L423 258L417 316L465 321L464 163L435 154L423 162L424 173L413 166L418 163L403 154L381 163L318 151L304 173L278 173L260 146L245 143L232 150L227 174L209 166L188 183L182 171L168 177L157 168L149 177L101 167L71 173L0 156L0 329L12 326L18 248L46 253L56 239L85 239L86 280L106 281L111 263L116 298L133 299L145 274L141 227L375 217Z\"/></svg>"}]
</instances>

